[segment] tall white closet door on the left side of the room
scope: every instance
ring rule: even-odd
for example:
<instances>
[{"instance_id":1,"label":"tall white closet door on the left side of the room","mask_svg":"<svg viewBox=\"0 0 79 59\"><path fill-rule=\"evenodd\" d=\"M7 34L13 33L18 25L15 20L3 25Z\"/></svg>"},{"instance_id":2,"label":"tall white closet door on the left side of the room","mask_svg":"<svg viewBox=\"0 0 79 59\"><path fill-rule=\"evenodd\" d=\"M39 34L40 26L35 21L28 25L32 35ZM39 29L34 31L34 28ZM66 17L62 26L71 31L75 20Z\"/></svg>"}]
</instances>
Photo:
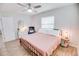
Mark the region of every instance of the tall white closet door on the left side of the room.
<instances>
[{"instance_id":1,"label":"tall white closet door on the left side of the room","mask_svg":"<svg viewBox=\"0 0 79 59\"><path fill-rule=\"evenodd\" d=\"M12 17L2 17L4 42L15 39L14 21Z\"/></svg>"}]
</instances>

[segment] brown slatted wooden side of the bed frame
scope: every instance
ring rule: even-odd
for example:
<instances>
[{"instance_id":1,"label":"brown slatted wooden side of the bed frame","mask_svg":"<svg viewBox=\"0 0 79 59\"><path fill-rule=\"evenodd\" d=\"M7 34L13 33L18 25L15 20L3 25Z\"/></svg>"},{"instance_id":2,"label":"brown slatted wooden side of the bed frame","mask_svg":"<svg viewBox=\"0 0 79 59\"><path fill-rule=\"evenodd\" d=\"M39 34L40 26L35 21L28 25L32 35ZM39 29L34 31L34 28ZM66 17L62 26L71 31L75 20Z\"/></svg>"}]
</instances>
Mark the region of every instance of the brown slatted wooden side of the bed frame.
<instances>
[{"instance_id":1,"label":"brown slatted wooden side of the bed frame","mask_svg":"<svg viewBox=\"0 0 79 59\"><path fill-rule=\"evenodd\" d=\"M20 40L20 45L23 46L25 49L31 50L31 51L32 51L31 54L32 54L33 56L34 56L34 55L43 56L42 53L40 53L40 52L38 51L38 49L35 48L33 45L31 45L29 42L27 42L27 41L24 40L23 38L20 38L19 40ZM45 55L47 55L47 54L45 54Z\"/></svg>"}]
</instances>

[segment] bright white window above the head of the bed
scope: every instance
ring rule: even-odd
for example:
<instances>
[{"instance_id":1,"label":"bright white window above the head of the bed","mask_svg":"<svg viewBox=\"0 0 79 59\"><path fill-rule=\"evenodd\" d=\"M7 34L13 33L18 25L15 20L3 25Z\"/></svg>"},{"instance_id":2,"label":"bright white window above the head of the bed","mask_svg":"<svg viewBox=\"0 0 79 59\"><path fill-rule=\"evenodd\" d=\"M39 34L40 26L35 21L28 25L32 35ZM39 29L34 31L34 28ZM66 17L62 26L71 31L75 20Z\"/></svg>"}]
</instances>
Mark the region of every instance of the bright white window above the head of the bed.
<instances>
[{"instance_id":1,"label":"bright white window above the head of the bed","mask_svg":"<svg viewBox=\"0 0 79 59\"><path fill-rule=\"evenodd\" d=\"M46 29L54 28L54 16L43 17L41 19L41 28Z\"/></svg>"}]
</instances>

